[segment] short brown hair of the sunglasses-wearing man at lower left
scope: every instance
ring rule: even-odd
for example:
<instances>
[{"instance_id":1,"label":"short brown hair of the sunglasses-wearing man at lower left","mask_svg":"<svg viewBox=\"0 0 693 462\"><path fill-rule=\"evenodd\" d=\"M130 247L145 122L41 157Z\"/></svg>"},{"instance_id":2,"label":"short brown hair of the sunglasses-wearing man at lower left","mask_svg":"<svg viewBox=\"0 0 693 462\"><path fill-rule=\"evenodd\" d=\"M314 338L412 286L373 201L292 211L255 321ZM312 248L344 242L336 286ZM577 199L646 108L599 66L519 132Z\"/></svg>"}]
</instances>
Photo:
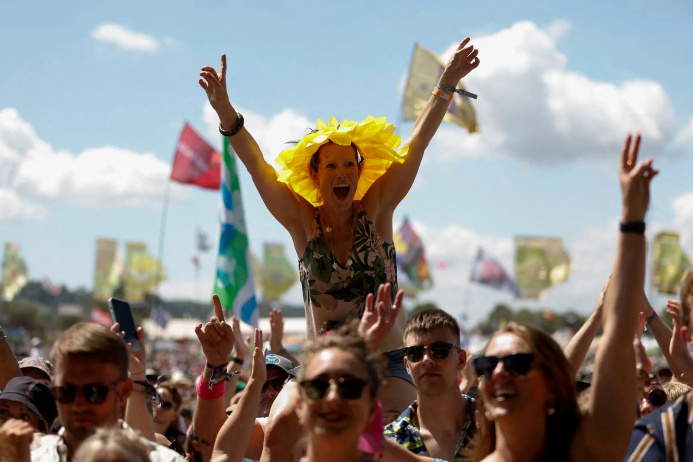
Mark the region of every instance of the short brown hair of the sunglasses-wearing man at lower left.
<instances>
[{"instance_id":1,"label":"short brown hair of the sunglasses-wearing man at lower left","mask_svg":"<svg viewBox=\"0 0 693 462\"><path fill-rule=\"evenodd\" d=\"M128 348L119 335L95 323L76 323L58 336L51 350L51 362L58 366L67 356L95 359L114 364L121 377L128 377Z\"/></svg>"}]
</instances>

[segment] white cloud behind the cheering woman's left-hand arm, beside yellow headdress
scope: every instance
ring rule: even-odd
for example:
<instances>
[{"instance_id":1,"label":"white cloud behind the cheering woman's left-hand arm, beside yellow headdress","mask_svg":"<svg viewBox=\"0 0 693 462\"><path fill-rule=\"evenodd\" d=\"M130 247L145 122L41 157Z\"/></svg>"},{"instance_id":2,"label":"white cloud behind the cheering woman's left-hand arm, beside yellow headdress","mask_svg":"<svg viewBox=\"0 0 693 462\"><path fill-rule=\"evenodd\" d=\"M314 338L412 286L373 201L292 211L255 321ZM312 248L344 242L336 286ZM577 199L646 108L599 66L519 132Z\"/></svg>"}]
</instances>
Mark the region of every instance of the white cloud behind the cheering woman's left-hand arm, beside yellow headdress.
<instances>
[{"instance_id":1,"label":"white cloud behind the cheering woman's left-hand arm, beside yellow headdress","mask_svg":"<svg viewBox=\"0 0 693 462\"><path fill-rule=\"evenodd\" d=\"M315 127L315 121L309 121L293 109L283 109L269 118L242 108L236 110L243 114L245 127L257 141L265 160L277 170L279 166L274 163L274 159L277 159L279 152L291 147L287 144L289 141L299 141L306 134L307 128ZM207 102L202 109L202 118L207 125L209 139L219 139L219 118Z\"/></svg>"}]
</instances>

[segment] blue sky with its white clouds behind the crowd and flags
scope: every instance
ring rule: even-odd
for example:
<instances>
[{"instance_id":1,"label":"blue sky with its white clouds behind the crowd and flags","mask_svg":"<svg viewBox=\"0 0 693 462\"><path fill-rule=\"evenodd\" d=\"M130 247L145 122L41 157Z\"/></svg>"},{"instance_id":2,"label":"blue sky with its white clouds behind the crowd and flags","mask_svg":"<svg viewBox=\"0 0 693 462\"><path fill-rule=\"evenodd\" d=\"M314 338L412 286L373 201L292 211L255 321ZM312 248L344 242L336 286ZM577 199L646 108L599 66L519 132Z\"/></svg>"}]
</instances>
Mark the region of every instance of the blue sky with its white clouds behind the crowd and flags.
<instances>
[{"instance_id":1,"label":"blue sky with its white clouds behind the crowd and flags","mask_svg":"<svg viewBox=\"0 0 693 462\"><path fill-rule=\"evenodd\" d=\"M396 220L414 220L434 263L448 262L422 299L459 313L477 245L510 266L515 235L562 236L572 278L529 305L590 310L613 258L626 130L643 130L642 153L662 170L651 228L681 231L693 252L693 64L682 59L693 53L690 3L338 5L0 4L0 41L11 44L0 49L0 240L21 245L30 276L70 287L91 286L98 236L142 240L155 252L182 123L219 144L197 80L222 52L231 101L273 159L316 118L396 122L414 42L444 55L469 35L482 64L465 83L479 94L482 134L441 128L396 211ZM284 242L293 260L288 233L245 172L241 184L254 252ZM173 193L162 293L195 296L195 229L216 236L218 195ZM202 256L204 296L213 265ZM468 294L473 319L511 301L483 287ZM297 287L288 299L299 301Z\"/></svg>"}]
</instances>

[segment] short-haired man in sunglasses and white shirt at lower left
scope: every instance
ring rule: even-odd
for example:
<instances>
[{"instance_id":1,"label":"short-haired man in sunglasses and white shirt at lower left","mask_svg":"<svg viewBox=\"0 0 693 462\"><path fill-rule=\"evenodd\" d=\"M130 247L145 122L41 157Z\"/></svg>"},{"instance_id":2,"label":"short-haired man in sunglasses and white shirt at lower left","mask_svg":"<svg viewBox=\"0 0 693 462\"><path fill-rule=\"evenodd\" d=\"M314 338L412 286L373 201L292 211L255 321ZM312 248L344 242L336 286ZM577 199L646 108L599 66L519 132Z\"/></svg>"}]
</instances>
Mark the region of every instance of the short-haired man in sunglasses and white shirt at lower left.
<instances>
[{"instance_id":1,"label":"short-haired man in sunglasses and white shirt at lower left","mask_svg":"<svg viewBox=\"0 0 693 462\"><path fill-rule=\"evenodd\" d=\"M53 396L63 427L47 435L31 452L34 462L70 462L99 427L130 427L119 420L121 405L132 394L128 349L114 332L94 323L78 323L53 344ZM176 452L144 438L152 462L182 462Z\"/></svg>"}]
</instances>

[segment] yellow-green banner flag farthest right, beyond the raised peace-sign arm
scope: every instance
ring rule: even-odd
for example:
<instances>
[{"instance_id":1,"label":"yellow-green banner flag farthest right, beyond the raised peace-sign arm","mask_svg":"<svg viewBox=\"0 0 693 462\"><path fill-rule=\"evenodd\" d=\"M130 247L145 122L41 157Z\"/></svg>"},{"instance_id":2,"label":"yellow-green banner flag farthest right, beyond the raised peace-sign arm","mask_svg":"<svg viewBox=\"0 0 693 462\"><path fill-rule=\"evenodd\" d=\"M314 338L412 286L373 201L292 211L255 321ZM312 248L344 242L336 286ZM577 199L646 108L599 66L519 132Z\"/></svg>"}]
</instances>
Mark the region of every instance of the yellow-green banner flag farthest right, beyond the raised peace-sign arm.
<instances>
[{"instance_id":1,"label":"yellow-green banner flag farthest right, beyond the raised peace-sign arm","mask_svg":"<svg viewBox=\"0 0 693 462\"><path fill-rule=\"evenodd\" d=\"M691 262L678 244L678 233L659 233L652 245L652 286L660 294L676 295Z\"/></svg>"}]
</instances>

